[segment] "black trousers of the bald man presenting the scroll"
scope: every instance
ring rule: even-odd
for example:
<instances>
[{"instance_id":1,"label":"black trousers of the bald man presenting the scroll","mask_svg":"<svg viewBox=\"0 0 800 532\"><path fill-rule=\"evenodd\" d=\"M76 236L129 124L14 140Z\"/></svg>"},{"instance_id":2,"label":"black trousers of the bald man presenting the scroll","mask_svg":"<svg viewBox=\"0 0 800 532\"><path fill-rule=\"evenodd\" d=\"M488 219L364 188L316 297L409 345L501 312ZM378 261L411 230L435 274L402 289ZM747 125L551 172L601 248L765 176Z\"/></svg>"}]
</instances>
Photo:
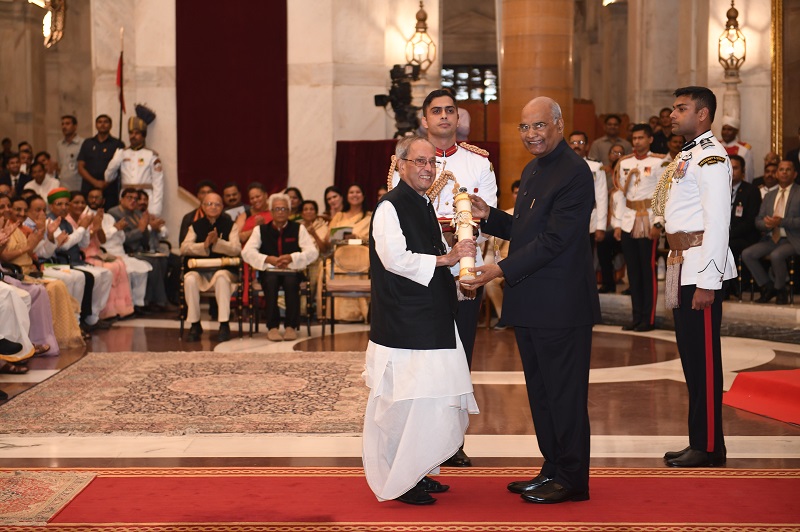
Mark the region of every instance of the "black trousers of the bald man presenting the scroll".
<instances>
[{"instance_id":1,"label":"black trousers of the bald man presenting the scroll","mask_svg":"<svg viewBox=\"0 0 800 532\"><path fill-rule=\"evenodd\" d=\"M592 326L515 327L541 473L562 486L589 489L589 360Z\"/></svg>"}]
</instances>

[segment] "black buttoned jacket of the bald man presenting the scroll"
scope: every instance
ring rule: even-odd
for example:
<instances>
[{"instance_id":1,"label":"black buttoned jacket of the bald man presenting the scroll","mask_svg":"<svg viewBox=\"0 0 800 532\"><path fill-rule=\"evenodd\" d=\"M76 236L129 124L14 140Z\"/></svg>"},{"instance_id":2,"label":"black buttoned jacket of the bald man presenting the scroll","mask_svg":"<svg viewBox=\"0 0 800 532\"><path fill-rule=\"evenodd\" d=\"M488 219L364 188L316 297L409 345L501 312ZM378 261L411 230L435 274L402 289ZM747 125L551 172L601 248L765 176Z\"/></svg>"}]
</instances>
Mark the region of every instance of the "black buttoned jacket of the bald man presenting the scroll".
<instances>
[{"instance_id":1,"label":"black buttoned jacket of the bald man presenting the scroll","mask_svg":"<svg viewBox=\"0 0 800 532\"><path fill-rule=\"evenodd\" d=\"M506 280L506 324L565 328L600 321L586 238L593 205L592 172L562 139L522 171L515 214L491 210L483 229L511 241L508 257L499 263Z\"/></svg>"}]
</instances>

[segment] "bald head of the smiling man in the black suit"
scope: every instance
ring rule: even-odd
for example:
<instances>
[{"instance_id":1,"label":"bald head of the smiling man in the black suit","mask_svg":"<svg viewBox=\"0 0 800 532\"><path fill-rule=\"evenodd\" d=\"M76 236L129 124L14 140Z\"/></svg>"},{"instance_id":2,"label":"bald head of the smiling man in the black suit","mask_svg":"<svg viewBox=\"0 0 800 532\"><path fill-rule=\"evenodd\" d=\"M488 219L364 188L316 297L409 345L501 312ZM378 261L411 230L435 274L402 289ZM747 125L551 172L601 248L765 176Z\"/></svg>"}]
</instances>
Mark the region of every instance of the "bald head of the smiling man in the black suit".
<instances>
[{"instance_id":1,"label":"bald head of the smiling man in the black suit","mask_svg":"<svg viewBox=\"0 0 800 532\"><path fill-rule=\"evenodd\" d=\"M552 98L534 98L522 108L519 132L526 150L537 157L546 157L564 138L561 107Z\"/></svg>"}]
</instances>

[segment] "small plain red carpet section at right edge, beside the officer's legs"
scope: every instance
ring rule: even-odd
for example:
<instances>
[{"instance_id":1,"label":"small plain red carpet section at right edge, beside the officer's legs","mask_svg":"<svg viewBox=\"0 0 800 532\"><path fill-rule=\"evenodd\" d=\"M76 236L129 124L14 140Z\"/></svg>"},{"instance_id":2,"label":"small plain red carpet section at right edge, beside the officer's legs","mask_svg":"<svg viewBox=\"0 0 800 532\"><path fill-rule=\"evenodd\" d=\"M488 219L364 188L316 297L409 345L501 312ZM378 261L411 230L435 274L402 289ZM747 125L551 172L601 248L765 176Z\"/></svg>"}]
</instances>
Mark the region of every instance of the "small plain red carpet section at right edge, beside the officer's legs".
<instances>
[{"instance_id":1,"label":"small plain red carpet section at right edge, beside the officer's legs","mask_svg":"<svg viewBox=\"0 0 800 532\"><path fill-rule=\"evenodd\" d=\"M739 373L722 402L800 425L800 369Z\"/></svg>"}]
</instances>

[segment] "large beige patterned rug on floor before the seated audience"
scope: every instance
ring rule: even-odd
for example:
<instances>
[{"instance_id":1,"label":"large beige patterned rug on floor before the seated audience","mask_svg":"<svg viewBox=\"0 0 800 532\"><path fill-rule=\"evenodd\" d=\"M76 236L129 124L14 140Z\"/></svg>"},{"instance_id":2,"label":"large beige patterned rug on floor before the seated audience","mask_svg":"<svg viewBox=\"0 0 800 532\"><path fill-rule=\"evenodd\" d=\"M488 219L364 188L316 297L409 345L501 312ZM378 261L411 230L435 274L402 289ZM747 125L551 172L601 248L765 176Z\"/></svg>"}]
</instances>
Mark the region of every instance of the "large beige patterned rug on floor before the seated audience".
<instances>
[{"instance_id":1,"label":"large beige patterned rug on floor before the seated audience","mask_svg":"<svg viewBox=\"0 0 800 532\"><path fill-rule=\"evenodd\" d=\"M363 352L90 353L0 406L3 433L359 433Z\"/></svg>"}]
</instances>

